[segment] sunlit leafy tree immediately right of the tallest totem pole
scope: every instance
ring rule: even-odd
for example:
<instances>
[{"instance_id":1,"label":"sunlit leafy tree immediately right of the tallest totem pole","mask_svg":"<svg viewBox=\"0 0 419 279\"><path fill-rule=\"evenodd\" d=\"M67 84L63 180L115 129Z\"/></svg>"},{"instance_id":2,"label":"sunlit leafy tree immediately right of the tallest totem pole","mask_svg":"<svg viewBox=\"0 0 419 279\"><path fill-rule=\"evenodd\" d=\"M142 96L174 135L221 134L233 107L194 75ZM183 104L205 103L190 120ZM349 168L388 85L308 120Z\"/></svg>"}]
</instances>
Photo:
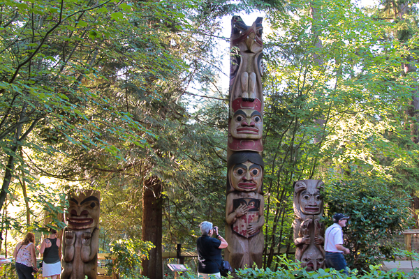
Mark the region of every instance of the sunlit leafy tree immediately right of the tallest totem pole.
<instances>
[{"instance_id":1,"label":"sunlit leafy tree immediately right of the tallest totem pole","mask_svg":"<svg viewBox=\"0 0 419 279\"><path fill-rule=\"evenodd\" d=\"M400 144L410 137L400 108L415 83L401 75L404 47L383 40L394 22L349 1L288 9L269 13L265 44L265 266L292 241L293 181L352 181L359 172L391 186L401 179L397 162L416 160Z\"/></svg>"}]
</instances>

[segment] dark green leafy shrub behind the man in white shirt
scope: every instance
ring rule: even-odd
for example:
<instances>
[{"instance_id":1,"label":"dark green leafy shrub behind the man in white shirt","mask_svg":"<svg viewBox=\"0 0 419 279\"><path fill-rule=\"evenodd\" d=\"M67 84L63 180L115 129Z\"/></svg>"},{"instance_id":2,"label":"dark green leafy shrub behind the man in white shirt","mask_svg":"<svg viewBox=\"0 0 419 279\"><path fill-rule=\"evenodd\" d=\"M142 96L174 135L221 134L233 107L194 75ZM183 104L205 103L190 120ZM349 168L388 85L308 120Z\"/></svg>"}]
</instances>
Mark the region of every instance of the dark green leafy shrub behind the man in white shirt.
<instances>
[{"instance_id":1,"label":"dark green leafy shrub behind the man in white shirt","mask_svg":"<svg viewBox=\"0 0 419 279\"><path fill-rule=\"evenodd\" d=\"M394 259L397 247L388 246L386 239L412 225L406 193L395 195L376 179L354 175L348 182L330 183L325 187L325 202L328 223L335 213L351 217L344 227L344 246L351 250L346 262L351 269L369 271L382 257Z\"/></svg>"}]
</instances>

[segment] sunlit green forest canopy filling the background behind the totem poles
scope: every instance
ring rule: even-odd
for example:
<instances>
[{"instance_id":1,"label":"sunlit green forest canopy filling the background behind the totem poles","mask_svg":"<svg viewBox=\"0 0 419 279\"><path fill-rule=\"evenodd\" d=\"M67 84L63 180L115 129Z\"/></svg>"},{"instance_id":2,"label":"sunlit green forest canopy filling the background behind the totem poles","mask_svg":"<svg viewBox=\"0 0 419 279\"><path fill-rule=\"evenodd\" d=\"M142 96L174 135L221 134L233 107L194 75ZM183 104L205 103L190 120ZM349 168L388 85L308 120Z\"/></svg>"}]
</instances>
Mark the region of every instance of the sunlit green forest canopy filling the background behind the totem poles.
<instances>
[{"instance_id":1,"label":"sunlit green forest canopy filling the background behind the totem poles","mask_svg":"<svg viewBox=\"0 0 419 279\"><path fill-rule=\"evenodd\" d=\"M340 193L365 186L383 189L377 199L392 193L399 201L388 204L397 229L383 235L417 223L416 7L387 0L367 7L346 0L0 0L1 253L10 255L24 232L64 227L71 188L101 192L102 252L111 241L154 233L145 224L147 191L161 202L156 225L165 250L176 243L194 250L203 220L222 228L222 61L229 53L219 46L229 38L219 31L227 28L223 18L255 10L269 27L264 266L277 269L274 252L293 246L292 186L300 179L325 182L329 217L343 209L337 186L347 187ZM358 196L344 198L353 204Z\"/></svg>"}]
</instances>

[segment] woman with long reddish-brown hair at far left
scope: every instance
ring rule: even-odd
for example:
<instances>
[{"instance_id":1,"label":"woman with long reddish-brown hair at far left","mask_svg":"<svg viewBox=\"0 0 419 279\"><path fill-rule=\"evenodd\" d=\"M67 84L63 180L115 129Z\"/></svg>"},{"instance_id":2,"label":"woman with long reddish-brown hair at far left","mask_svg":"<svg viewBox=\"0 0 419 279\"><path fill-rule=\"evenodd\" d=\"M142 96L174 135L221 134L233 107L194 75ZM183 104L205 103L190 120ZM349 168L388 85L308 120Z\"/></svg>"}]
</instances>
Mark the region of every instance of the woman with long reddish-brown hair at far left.
<instances>
[{"instance_id":1,"label":"woman with long reddish-brown hair at far left","mask_svg":"<svg viewBox=\"0 0 419 279\"><path fill-rule=\"evenodd\" d=\"M34 279L32 272L38 272L35 256L35 234L28 232L22 242L17 243L13 257L19 279Z\"/></svg>"}]
</instances>

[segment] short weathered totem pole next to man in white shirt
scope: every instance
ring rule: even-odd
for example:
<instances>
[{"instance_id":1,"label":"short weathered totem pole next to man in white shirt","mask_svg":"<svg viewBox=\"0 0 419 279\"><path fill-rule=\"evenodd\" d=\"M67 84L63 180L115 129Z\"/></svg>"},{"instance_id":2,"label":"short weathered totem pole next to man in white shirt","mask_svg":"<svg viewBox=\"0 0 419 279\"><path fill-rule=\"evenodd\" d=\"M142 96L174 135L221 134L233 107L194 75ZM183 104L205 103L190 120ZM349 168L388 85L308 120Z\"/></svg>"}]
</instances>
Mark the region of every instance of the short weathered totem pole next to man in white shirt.
<instances>
[{"instance_id":1,"label":"short weathered totem pole next to man in white shirt","mask_svg":"<svg viewBox=\"0 0 419 279\"><path fill-rule=\"evenodd\" d=\"M307 271L324 268L325 239L323 216L323 197L321 180L300 180L294 183L294 243L295 259Z\"/></svg>"}]
</instances>

